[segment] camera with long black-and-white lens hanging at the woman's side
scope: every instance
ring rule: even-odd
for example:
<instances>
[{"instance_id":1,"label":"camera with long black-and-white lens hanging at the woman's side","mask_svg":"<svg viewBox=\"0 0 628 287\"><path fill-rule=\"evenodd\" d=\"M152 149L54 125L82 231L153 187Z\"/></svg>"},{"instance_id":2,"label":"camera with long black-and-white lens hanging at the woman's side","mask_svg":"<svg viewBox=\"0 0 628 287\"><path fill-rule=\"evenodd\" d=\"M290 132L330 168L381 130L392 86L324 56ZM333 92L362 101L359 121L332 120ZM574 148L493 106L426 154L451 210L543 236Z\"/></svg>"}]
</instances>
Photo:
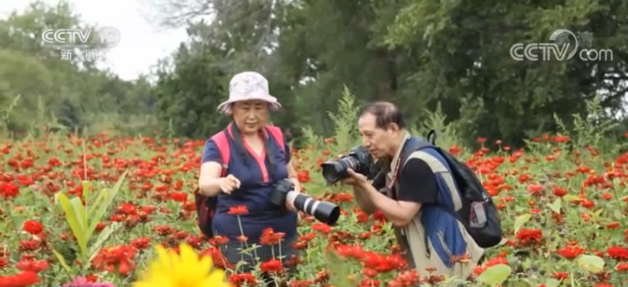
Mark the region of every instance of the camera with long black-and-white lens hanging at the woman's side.
<instances>
[{"instance_id":1,"label":"camera with long black-and-white lens hanging at the woman's side","mask_svg":"<svg viewBox=\"0 0 628 287\"><path fill-rule=\"evenodd\" d=\"M275 185L270 202L277 207L284 207L286 202L292 202L299 212L312 215L316 220L329 226L336 224L340 217L339 206L331 202L321 202L307 194L294 192L294 183L289 179L284 179Z\"/></svg>"}]
</instances>

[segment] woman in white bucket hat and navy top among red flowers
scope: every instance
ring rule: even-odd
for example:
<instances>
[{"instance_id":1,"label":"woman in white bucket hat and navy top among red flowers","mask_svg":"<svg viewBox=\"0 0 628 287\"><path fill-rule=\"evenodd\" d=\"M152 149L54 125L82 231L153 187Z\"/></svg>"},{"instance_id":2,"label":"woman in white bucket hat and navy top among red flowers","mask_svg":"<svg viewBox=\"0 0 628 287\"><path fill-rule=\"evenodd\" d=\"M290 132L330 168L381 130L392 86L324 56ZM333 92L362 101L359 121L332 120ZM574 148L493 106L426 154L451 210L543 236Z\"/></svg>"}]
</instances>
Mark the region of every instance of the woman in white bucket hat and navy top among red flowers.
<instances>
[{"instance_id":1,"label":"woman in white bucket hat and navy top among red flowers","mask_svg":"<svg viewBox=\"0 0 628 287\"><path fill-rule=\"evenodd\" d=\"M202 154L199 192L206 197L217 197L212 231L229 239L221 246L222 253L233 265L246 261L245 271L258 263L255 256L259 261L267 261L273 255L275 259L279 259L279 254L287 259L294 254L297 212L292 204L282 208L270 202L273 185L282 179L290 179L295 191L300 190L287 143L273 140L264 128L269 111L279 108L281 105L269 95L268 81L262 75L254 72L235 75L230 81L229 99L218 106L220 113L233 119L225 130L230 135L225 177L221 177L224 165L214 140L205 142ZM236 206L247 207L246 212L237 215L230 212ZM285 234L281 244L262 245L251 252L253 256L240 253L238 249L260 245L262 231L269 228Z\"/></svg>"}]
</instances>

